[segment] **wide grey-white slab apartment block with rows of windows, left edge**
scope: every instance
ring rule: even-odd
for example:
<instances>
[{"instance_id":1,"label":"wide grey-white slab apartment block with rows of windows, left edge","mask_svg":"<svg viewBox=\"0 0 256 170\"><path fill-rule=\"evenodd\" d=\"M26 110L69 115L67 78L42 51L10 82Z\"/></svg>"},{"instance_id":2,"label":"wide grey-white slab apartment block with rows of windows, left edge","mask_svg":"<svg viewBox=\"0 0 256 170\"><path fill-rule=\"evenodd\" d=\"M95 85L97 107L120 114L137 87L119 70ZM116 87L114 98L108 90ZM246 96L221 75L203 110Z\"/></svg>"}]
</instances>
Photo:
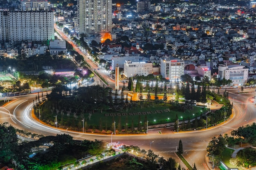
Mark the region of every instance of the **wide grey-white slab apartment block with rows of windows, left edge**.
<instances>
[{"instance_id":1,"label":"wide grey-white slab apartment block with rows of windows, left edge","mask_svg":"<svg viewBox=\"0 0 256 170\"><path fill-rule=\"evenodd\" d=\"M0 41L54 40L52 11L0 11Z\"/></svg>"}]
</instances>

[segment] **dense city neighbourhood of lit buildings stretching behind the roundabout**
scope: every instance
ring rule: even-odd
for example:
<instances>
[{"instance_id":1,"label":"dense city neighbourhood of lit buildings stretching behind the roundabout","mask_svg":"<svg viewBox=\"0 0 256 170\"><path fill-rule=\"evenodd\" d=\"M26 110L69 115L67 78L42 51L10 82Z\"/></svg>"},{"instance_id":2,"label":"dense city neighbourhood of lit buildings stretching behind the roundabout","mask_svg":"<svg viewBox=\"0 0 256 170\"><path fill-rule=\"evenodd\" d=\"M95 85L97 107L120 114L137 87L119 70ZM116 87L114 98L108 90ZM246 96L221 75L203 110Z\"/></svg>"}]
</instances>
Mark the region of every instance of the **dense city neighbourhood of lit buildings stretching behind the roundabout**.
<instances>
[{"instance_id":1,"label":"dense city neighbourhood of lit buildings stretching behind the roundabout","mask_svg":"<svg viewBox=\"0 0 256 170\"><path fill-rule=\"evenodd\" d=\"M126 77L154 74L176 82L180 81L181 75L189 74L193 79L196 76L200 79L204 76L231 79L229 85L234 87L244 86L248 78L254 78L256 29L253 2L248 1L245 6L213 2L200 4L201 7L192 1L180 4L113 3L112 7L107 7L112 10L109 33L107 30L79 31L79 20L85 16L79 18L78 7L74 5L76 1L57 5L44 3L38 9L34 7L36 11L33 7L24 7L28 3L22 3L18 6L19 11L1 11L2 21L12 20L12 25L2 22L3 30L13 24L21 29L13 32L15 30L10 27L9 34L2 33L2 56L30 57L48 51L51 55L66 55L65 43L54 40L56 23L70 37L78 36L79 39L83 34L83 40L99 51L95 60L106 60L111 65L110 70L115 70L118 64ZM32 15L36 20L30 20ZM28 23L20 23L23 17L27 17L24 19ZM35 32L33 35L22 31L30 24L38 25L31 30L25 29Z\"/></svg>"}]
</instances>

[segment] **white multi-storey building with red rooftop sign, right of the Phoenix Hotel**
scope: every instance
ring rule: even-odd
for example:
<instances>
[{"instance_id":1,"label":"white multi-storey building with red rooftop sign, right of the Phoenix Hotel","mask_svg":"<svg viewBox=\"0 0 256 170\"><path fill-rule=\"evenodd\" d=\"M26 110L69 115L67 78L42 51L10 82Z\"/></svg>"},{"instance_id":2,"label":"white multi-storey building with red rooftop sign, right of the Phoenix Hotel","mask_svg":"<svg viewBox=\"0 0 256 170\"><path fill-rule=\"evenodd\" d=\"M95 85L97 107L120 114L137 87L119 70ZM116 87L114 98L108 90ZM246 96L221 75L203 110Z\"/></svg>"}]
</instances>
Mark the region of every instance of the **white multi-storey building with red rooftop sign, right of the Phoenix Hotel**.
<instances>
[{"instance_id":1,"label":"white multi-storey building with red rooftop sign, right of the Phoenix Hotel","mask_svg":"<svg viewBox=\"0 0 256 170\"><path fill-rule=\"evenodd\" d=\"M163 78L171 82L180 81L180 76L184 75L184 61L179 58L160 58L160 73Z\"/></svg>"}]
</instances>

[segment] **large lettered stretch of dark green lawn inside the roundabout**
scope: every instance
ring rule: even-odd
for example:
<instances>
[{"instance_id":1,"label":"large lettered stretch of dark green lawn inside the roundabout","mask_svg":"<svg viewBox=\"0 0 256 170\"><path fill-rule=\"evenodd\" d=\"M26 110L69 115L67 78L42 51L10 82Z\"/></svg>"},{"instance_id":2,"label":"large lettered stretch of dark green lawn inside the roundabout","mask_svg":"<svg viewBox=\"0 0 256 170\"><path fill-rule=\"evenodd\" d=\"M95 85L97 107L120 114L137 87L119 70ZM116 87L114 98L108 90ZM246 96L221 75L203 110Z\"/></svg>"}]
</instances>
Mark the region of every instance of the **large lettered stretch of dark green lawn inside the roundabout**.
<instances>
[{"instance_id":1,"label":"large lettered stretch of dark green lawn inside the roundabout","mask_svg":"<svg viewBox=\"0 0 256 170\"><path fill-rule=\"evenodd\" d=\"M122 126L124 126L126 123L128 124L128 126L131 126L133 121L133 124L135 125L135 127L137 127L137 124L139 122L141 122L141 126L143 126L144 122L146 122L147 120L148 126L174 122L176 114L178 115L180 121L183 121L183 118L187 120L189 117L190 119L193 119L195 117L199 117L201 114L200 110L202 110L202 108L194 106L192 110L186 110L185 112L181 112L171 109L170 107L171 105L167 103L154 104L153 102L145 102L143 104L143 107L141 107L138 102L138 106L136 108L130 108L127 111L123 110L123 112L103 110L101 113L101 110L95 110L94 113L92 113L91 117L89 113L85 113L85 119L88 125L99 125L101 121L102 126L106 126L107 124L107 126L109 127L114 121L116 122L117 126L120 121ZM203 112L206 112L206 110L204 110Z\"/></svg>"}]
</instances>

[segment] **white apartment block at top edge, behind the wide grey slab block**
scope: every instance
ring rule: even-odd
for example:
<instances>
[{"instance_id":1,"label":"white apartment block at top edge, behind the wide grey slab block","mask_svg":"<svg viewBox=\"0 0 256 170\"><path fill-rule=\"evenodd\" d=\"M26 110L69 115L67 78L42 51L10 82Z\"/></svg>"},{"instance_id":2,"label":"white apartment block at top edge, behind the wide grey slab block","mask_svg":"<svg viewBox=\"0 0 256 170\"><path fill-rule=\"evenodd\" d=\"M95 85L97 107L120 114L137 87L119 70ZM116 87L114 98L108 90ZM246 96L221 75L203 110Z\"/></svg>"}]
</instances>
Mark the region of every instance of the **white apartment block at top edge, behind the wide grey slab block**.
<instances>
[{"instance_id":1,"label":"white apartment block at top edge, behind the wide grey slab block","mask_svg":"<svg viewBox=\"0 0 256 170\"><path fill-rule=\"evenodd\" d=\"M22 11L47 10L47 0L21 0Z\"/></svg>"}]
</instances>

